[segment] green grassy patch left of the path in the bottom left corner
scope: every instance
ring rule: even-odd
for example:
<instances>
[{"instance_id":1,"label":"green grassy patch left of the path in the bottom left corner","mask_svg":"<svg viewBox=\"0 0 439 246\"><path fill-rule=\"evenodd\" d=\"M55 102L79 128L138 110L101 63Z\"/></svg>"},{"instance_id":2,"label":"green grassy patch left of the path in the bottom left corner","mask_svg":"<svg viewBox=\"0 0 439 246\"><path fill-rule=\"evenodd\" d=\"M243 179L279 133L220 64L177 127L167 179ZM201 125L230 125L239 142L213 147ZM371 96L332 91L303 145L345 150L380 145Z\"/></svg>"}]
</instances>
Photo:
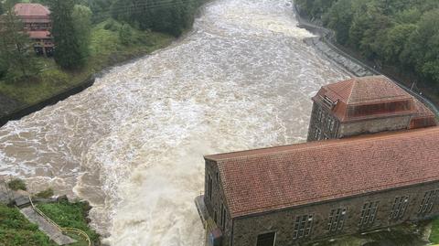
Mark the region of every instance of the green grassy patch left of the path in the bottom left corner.
<instances>
[{"instance_id":1,"label":"green grassy patch left of the path in the bottom left corner","mask_svg":"<svg viewBox=\"0 0 439 246\"><path fill-rule=\"evenodd\" d=\"M30 223L18 209L0 204L0 245L55 246L37 225Z\"/></svg>"}]
</instances>

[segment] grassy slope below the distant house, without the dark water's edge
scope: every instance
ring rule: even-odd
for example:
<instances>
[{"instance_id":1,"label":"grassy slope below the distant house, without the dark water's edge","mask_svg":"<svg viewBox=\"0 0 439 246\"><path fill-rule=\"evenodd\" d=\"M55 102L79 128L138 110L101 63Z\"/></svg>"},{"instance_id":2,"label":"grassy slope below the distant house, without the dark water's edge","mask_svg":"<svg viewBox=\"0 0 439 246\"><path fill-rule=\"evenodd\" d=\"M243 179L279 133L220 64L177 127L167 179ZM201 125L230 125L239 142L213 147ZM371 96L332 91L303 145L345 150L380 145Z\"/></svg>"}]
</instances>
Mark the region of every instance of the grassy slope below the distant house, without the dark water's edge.
<instances>
[{"instance_id":1,"label":"grassy slope below the distant house, without the dark water's edge","mask_svg":"<svg viewBox=\"0 0 439 246\"><path fill-rule=\"evenodd\" d=\"M174 37L154 32L134 30L133 40L129 46L123 46L119 38L120 24L113 22L112 30L105 30L110 20L93 27L91 32L91 57L83 70L66 72L59 70L53 59L41 58L45 68L40 81L25 81L8 84L0 81L0 93L19 102L33 104L44 101L61 91L80 84L91 74L108 66L148 54L155 49L164 48L174 40Z\"/></svg>"}]
</instances>

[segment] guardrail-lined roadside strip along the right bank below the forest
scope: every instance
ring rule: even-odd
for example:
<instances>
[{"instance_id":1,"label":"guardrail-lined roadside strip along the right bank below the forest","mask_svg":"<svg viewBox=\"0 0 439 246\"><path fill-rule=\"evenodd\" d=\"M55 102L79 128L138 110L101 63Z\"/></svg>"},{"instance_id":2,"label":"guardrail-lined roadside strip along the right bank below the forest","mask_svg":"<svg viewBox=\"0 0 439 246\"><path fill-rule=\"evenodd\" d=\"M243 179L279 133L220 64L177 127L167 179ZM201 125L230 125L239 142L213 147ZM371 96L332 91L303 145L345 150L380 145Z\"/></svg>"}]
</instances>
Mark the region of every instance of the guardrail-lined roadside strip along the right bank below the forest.
<instances>
[{"instance_id":1,"label":"guardrail-lined roadside strip along the right bank below the forest","mask_svg":"<svg viewBox=\"0 0 439 246\"><path fill-rule=\"evenodd\" d=\"M323 42L325 42L327 44L327 46L329 48L332 48L334 51L336 51L338 54L344 56L347 59L350 59L354 62L356 62L357 64L359 64L360 66L362 66L363 68L371 71L372 73L376 74L376 75L384 75L387 78L389 78L391 81L393 81L395 84L397 84L398 86L400 86L402 88L402 90L407 91L408 93L410 93L413 97L415 97L417 100L423 102L423 104L425 106L427 106L430 110L432 110L434 112L434 114L436 115L436 118L439 118L439 109L438 107L434 104L434 102L431 102L429 99L423 97L422 95L412 91L410 88L408 88L407 86L405 86L402 82L400 82L399 80L396 80L393 76L391 76L391 74L388 73L384 73L380 70L376 70L374 68L371 68L368 64L366 64L364 61L359 60L354 58L353 56L349 55L347 52L345 52L344 50L340 49L337 47L337 40L336 40L336 32L334 30L331 29L327 29L325 27L321 27L321 26L317 26L315 24L309 23L308 21L306 21L302 16L300 16L300 12L297 9L297 5L294 4L294 14L297 18L297 21L299 22L300 25L305 26L305 27L311 27L313 29L317 29L319 31L319 33L321 34L320 36L320 40L322 40Z\"/></svg>"}]
</instances>

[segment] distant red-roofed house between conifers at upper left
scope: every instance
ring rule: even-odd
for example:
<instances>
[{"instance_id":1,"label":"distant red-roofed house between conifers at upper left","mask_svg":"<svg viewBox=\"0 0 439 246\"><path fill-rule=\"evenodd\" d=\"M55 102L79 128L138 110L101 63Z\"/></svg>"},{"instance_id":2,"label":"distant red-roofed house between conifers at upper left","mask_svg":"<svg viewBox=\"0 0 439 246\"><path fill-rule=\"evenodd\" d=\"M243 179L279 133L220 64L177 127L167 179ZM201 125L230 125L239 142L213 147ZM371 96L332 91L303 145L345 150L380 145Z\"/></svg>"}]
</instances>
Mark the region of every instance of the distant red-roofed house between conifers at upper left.
<instances>
[{"instance_id":1,"label":"distant red-roofed house between conifers at upper left","mask_svg":"<svg viewBox=\"0 0 439 246\"><path fill-rule=\"evenodd\" d=\"M16 4L14 9L34 42L35 52L38 55L52 56L54 44L50 34L52 24L48 8L40 4Z\"/></svg>"}]
</instances>

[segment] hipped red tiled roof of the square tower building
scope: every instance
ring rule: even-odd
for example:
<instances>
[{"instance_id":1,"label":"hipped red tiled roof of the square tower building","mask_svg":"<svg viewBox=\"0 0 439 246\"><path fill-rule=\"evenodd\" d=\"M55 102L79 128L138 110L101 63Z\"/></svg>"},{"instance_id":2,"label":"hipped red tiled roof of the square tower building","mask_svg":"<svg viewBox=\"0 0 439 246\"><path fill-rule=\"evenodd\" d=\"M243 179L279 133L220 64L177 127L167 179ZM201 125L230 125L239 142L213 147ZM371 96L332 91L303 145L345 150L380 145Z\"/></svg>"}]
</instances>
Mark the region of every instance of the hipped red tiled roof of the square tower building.
<instances>
[{"instance_id":1,"label":"hipped red tiled roof of the square tower building","mask_svg":"<svg viewBox=\"0 0 439 246\"><path fill-rule=\"evenodd\" d=\"M328 106L341 122L409 115L415 112L414 99L384 76L353 78L324 86L313 98Z\"/></svg>"}]
</instances>

